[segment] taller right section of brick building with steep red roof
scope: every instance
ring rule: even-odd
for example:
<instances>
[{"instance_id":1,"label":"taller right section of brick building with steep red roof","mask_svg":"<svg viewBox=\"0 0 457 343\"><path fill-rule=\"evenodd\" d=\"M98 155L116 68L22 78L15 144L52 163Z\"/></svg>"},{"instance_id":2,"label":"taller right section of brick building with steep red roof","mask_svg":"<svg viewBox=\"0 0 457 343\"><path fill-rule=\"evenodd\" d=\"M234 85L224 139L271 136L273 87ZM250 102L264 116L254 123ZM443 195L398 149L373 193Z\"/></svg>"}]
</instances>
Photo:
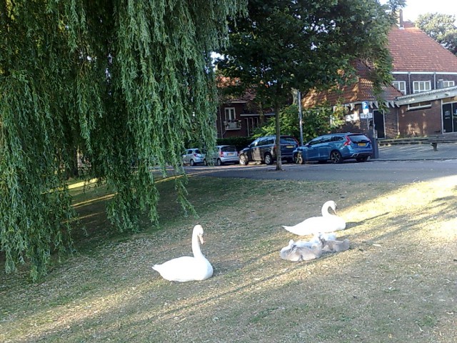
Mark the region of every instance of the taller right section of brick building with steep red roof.
<instances>
[{"instance_id":1,"label":"taller right section of brick building with steep red roof","mask_svg":"<svg viewBox=\"0 0 457 343\"><path fill-rule=\"evenodd\" d=\"M398 135L457 133L457 56L409 21L388 36L398 96Z\"/></svg>"}]
</instances>

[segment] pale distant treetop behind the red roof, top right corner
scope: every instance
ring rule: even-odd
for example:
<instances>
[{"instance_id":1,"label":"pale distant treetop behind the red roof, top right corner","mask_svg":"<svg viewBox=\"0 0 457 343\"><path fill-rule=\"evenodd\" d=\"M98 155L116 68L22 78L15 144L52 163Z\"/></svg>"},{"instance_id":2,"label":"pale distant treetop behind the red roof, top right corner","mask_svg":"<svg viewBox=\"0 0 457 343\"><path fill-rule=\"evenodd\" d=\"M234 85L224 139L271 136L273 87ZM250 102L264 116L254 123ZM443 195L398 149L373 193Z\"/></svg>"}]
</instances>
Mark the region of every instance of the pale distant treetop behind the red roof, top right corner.
<instances>
[{"instance_id":1,"label":"pale distant treetop behind the red roof, top right corner","mask_svg":"<svg viewBox=\"0 0 457 343\"><path fill-rule=\"evenodd\" d=\"M457 55L456 16L451 14L428 13L418 16L416 26Z\"/></svg>"}]
</instances>

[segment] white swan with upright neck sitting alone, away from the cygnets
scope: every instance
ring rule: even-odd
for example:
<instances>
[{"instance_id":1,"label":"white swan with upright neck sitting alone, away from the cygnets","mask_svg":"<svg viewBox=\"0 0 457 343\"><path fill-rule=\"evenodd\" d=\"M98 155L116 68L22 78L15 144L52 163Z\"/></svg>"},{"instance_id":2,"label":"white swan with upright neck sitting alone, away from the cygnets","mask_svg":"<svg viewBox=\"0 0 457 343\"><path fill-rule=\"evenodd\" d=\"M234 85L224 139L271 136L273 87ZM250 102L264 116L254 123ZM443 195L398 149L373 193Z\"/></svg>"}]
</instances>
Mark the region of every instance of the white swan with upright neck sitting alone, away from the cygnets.
<instances>
[{"instance_id":1,"label":"white swan with upright neck sitting alone, away from the cygnets","mask_svg":"<svg viewBox=\"0 0 457 343\"><path fill-rule=\"evenodd\" d=\"M203 227L196 225L192 232L192 252L194 257L178 257L163 264L154 264L152 269L159 272L161 277L169 281L201 281L212 277L213 266L201 253L199 239L201 244L204 244Z\"/></svg>"}]
</instances>

